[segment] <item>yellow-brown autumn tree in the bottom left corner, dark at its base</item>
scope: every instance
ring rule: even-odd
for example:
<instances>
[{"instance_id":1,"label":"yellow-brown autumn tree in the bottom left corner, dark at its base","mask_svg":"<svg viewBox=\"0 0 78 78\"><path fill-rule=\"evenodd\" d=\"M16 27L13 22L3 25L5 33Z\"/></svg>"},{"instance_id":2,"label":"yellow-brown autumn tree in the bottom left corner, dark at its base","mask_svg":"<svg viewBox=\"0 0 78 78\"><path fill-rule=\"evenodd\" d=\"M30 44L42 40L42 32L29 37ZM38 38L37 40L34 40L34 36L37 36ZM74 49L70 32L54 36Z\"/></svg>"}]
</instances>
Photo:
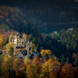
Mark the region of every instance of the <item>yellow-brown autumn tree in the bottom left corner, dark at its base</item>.
<instances>
[{"instance_id":1,"label":"yellow-brown autumn tree in the bottom left corner, dark at its base","mask_svg":"<svg viewBox=\"0 0 78 78\"><path fill-rule=\"evenodd\" d=\"M15 71L13 70L13 58L11 56L4 56L1 64L1 78L15 78Z\"/></svg>"}]
</instances>

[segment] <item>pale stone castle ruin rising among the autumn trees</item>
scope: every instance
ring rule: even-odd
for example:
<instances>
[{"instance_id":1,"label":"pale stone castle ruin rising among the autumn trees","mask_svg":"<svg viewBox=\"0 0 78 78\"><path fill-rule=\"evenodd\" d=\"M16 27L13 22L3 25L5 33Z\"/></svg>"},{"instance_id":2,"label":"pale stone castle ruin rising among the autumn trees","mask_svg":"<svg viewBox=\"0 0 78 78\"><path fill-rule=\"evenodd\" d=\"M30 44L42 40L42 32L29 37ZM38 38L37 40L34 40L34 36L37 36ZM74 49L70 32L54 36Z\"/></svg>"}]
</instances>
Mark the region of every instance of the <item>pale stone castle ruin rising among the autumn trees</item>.
<instances>
[{"instance_id":1,"label":"pale stone castle ruin rising among the autumn trees","mask_svg":"<svg viewBox=\"0 0 78 78\"><path fill-rule=\"evenodd\" d=\"M15 56L29 57L32 54L32 41L27 39L26 34L16 32L10 35L9 42L12 43L14 47Z\"/></svg>"}]
</instances>

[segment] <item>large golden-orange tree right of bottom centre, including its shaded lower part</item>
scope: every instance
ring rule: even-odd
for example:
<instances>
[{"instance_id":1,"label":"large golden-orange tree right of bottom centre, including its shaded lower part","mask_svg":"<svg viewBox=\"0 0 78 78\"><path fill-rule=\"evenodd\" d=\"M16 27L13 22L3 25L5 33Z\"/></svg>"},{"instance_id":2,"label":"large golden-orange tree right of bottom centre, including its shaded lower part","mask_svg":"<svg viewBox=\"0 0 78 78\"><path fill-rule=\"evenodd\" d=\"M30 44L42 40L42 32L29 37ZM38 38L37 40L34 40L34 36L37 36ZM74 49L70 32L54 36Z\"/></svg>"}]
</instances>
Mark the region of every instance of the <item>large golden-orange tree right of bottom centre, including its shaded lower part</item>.
<instances>
[{"instance_id":1,"label":"large golden-orange tree right of bottom centre, including its shaded lower part","mask_svg":"<svg viewBox=\"0 0 78 78\"><path fill-rule=\"evenodd\" d=\"M42 64L42 73L40 78L58 78L59 71L60 63L50 58Z\"/></svg>"}]
</instances>

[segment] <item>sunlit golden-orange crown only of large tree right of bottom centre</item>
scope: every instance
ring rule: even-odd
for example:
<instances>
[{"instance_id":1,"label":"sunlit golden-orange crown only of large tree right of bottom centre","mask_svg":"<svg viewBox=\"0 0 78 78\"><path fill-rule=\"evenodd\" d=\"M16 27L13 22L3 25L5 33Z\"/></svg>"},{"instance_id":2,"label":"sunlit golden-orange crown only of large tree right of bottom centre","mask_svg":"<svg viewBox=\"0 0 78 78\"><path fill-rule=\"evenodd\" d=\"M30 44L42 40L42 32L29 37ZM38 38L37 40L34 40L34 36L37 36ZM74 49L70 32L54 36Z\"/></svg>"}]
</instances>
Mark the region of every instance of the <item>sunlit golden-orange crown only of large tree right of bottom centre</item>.
<instances>
[{"instance_id":1,"label":"sunlit golden-orange crown only of large tree right of bottom centre","mask_svg":"<svg viewBox=\"0 0 78 78\"><path fill-rule=\"evenodd\" d=\"M42 64L42 71L43 72L56 72L60 70L60 63L57 61L53 61L49 59L44 64Z\"/></svg>"}]
</instances>

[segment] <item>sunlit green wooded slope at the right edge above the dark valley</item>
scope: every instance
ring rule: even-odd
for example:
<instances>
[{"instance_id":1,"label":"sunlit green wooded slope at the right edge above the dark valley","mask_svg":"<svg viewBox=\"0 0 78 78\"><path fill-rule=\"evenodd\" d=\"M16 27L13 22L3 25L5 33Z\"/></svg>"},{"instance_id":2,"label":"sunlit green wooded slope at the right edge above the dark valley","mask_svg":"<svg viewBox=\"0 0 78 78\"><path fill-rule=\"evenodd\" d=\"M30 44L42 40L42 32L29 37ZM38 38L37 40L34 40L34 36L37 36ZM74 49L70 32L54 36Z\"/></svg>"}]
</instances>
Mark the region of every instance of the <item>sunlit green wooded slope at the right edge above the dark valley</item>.
<instances>
[{"instance_id":1,"label":"sunlit green wooded slope at the right edge above the dark valley","mask_svg":"<svg viewBox=\"0 0 78 78\"><path fill-rule=\"evenodd\" d=\"M62 30L58 34L53 34L53 38L66 45L72 51L77 50L78 45L78 29Z\"/></svg>"}]
</instances>

